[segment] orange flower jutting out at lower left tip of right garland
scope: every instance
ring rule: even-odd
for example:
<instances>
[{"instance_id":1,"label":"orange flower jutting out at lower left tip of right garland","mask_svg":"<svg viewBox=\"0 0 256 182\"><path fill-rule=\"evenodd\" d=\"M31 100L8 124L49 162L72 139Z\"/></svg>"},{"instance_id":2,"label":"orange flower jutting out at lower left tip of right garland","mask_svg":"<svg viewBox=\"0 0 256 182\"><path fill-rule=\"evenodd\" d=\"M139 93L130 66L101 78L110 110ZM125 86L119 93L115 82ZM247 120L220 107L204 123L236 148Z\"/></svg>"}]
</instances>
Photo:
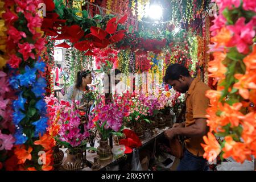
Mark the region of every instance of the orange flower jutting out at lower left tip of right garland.
<instances>
[{"instance_id":1,"label":"orange flower jutting out at lower left tip of right garland","mask_svg":"<svg viewBox=\"0 0 256 182\"><path fill-rule=\"evenodd\" d=\"M205 144L201 143L201 146L205 151L203 157L209 162L213 162L213 160L217 158L218 154L220 154L221 146L215 136L210 132L208 132L208 138L207 136L204 136L203 139L205 142Z\"/></svg>"}]
</instances>

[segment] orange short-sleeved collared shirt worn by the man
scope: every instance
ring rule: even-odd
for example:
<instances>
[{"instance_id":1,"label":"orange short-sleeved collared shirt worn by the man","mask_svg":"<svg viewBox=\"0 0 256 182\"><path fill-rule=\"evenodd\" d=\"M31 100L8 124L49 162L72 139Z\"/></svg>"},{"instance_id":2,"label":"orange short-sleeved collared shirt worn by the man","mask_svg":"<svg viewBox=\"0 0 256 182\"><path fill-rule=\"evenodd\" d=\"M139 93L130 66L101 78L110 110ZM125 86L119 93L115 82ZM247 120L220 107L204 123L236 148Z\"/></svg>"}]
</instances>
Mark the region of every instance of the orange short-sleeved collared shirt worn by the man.
<instances>
[{"instance_id":1,"label":"orange short-sleeved collared shirt worn by the man","mask_svg":"<svg viewBox=\"0 0 256 182\"><path fill-rule=\"evenodd\" d=\"M205 115L209 99L205 96L205 92L209 89L209 86L198 77L192 81L186 94L185 127L194 125L196 118L207 118ZM203 137L191 137L185 140L185 147L193 155L203 156L204 149L201 143L204 143Z\"/></svg>"}]
</instances>

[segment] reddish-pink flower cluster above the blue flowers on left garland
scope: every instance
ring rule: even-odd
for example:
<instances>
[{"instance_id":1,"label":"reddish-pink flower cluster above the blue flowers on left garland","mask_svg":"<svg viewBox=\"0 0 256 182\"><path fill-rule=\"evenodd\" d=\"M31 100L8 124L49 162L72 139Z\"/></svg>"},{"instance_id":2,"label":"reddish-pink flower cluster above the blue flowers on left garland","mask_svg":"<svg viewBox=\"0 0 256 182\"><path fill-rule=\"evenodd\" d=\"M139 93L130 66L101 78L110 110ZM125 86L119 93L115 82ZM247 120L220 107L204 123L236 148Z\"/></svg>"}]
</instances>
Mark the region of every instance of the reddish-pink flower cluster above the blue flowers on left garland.
<instances>
[{"instance_id":1,"label":"reddish-pink flower cluster above the blue flowers on left garland","mask_svg":"<svg viewBox=\"0 0 256 182\"><path fill-rule=\"evenodd\" d=\"M7 62L10 64L11 68L18 68L22 59L27 61L30 57L31 59L35 59L37 52L41 52L44 48L45 41L41 38L42 33L37 32L36 30L42 26L43 19L40 18L37 7L39 3L42 2L40 0L32 1L32 0L15 0L15 1L5 1L6 13L3 13L2 17L5 19L6 26L8 28L7 35L8 40L6 42L7 49L9 52L21 53L22 56L11 54L9 55L10 59ZM9 7L13 6L14 3L16 6L15 13L23 13L24 17L27 20L27 27L15 27L15 21L18 19L17 14L10 11ZM25 38L27 35L25 32L27 30L31 32L33 35L33 42L27 43Z\"/></svg>"}]
</instances>

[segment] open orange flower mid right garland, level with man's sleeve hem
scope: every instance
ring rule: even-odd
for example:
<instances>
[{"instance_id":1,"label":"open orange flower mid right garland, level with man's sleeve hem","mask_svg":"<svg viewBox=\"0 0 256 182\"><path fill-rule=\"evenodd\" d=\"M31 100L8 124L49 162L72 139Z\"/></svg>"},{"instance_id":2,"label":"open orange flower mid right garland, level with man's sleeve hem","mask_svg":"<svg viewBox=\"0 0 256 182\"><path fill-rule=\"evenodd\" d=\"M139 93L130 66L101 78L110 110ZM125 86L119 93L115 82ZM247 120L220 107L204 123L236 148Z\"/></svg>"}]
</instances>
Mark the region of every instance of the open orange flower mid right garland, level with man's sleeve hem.
<instances>
[{"instance_id":1,"label":"open orange flower mid right garland, level with man's sleeve hem","mask_svg":"<svg viewBox=\"0 0 256 182\"><path fill-rule=\"evenodd\" d=\"M240 124L240 116L243 116L243 114L239 111L242 107L242 104L240 102L233 104L230 106L229 104L219 104L220 110L222 111L220 114L221 121L220 125L225 126L228 125L228 123L231 123L231 127L236 127Z\"/></svg>"}]
</instances>

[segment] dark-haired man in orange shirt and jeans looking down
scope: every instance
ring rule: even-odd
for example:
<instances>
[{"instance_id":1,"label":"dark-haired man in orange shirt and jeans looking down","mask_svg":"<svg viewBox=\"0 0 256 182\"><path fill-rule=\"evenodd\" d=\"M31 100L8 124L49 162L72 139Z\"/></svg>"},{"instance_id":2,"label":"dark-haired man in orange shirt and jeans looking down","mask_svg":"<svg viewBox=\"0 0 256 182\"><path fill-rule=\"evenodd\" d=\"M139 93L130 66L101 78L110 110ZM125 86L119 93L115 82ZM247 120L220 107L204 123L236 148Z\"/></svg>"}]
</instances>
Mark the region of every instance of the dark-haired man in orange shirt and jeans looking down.
<instances>
[{"instance_id":1,"label":"dark-haired man in orange shirt and jeans looking down","mask_svg":"<svg viewBox=\"0 0 256 182\"><path fill-rule=\"evenodd\" d=\"M208 131L205 115L209 105L209 99L205 96L205 92L210 88L199 78L192 78L187 68L180 64L170 65L164 79L177 92L186 93L185 122L175 123L171 129L164 132L168 139L172 139L176 135L188 138L185 140L184 156L181 158L177 170L203 170L207 160L203 158L204 150L201 143L204 143L203 136Z\"/></svg>"}]
</instances>

